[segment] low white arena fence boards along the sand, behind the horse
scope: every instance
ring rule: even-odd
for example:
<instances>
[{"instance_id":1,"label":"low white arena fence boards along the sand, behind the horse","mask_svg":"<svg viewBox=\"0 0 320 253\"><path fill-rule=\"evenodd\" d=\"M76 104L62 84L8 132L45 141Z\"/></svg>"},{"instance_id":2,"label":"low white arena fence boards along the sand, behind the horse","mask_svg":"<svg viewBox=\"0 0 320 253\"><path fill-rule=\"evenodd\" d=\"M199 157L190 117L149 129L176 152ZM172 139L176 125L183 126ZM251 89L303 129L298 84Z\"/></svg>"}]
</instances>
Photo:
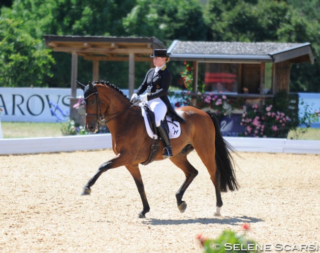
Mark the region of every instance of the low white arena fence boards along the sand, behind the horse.
<instances>
[{"instance_id":1,"label":"low white arena fence boards along the sand, behind the horse","mask_svg":"<svg viewBox=\"0 0 320 253\"><path fill-rule=\"evenodd\" d=\"M320 141L224 137L236 151L320 154ZM0 155L71 152L112 148L110 133L64 137L1 139Z\"/></svg>"}]
</instances>

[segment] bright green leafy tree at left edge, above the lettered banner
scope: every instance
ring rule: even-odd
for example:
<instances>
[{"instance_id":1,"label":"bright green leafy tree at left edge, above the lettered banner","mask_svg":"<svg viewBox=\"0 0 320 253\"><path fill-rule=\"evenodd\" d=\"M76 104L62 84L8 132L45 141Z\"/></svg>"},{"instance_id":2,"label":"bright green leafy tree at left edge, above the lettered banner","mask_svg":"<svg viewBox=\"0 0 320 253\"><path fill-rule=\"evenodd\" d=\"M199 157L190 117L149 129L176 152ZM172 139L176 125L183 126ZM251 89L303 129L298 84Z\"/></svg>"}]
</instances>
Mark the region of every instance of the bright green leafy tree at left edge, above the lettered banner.
<instances>
[{"instance_id":1,"label":"bright green leafy tree at left edge, above the lettered banner","mask_svg":"<svg viewBox=\"0 0 320 253\"><path fill-rule=\"evenodd\" d=\"M0 83L4 87L43 86L54 63L42 41L19 29L20 22L0 18Z\"/></svg>"}]
</instances>

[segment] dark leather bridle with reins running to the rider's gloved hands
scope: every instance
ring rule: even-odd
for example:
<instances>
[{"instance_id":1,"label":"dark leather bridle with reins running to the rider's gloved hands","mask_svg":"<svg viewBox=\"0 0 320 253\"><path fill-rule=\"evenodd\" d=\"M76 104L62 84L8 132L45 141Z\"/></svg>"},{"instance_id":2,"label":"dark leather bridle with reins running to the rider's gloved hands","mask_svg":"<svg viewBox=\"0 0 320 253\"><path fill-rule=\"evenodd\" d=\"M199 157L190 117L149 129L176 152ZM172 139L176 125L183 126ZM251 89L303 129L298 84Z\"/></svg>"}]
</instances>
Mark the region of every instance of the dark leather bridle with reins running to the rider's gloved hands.
<instances>
[{"instance_id":1,"label":"dark leather bridle with reins running to the rider's gloved hands","mask_svg":"<svg viewBox=\"0 0 320 253\"><path fill-rule=\"evenodd\" d=\"M106 123L108 123L109 121L112 121L118 117L120 117L122 114L124 114L126 111L128 111L132 106L135 106L139 103L139 101L131 104L130 106L128 106L127 108L125 108L124 110L121 110L119 112L104 116L102 114L102 110L101 110L101 106L100 106L100 101L101 103L104 105L105 108L107 108L107 106L105 105L105 103L103 102L103 100L99 97L98 92L96 90L96 86L94 86L95 88L95 92L84 97L84 103L86 104L86 100L92 96L95 95L96 96L96 113L86 113L85 117L96 117L96 121L101 124L101 125L105 125ZM98 111L100 109L100 114L98 114ZM109 118L109 119L108 119Z\"/></svg>"}]
</instances>

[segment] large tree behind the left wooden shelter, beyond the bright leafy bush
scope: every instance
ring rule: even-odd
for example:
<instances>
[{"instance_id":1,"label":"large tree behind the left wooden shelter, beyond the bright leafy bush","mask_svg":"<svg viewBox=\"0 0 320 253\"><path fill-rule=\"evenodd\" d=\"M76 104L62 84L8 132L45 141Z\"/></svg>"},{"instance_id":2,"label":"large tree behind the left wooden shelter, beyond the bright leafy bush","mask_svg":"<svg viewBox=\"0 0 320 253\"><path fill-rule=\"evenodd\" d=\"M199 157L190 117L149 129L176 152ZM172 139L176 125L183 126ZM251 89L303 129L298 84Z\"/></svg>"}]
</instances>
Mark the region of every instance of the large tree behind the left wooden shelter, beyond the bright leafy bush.
<instances>
[{"instance_id":1,"label":"large tree behind the left wooden shelter, beyond the bright leafy bush","mask_svg":"<svg viewBox=\"0 0 320 253\"><path fill-rule=\"evenodd\" d=\"M15 0L12 8L2 8L1 17L17 22L17 29L25 31L44 48L43 35L99 35L124 36L126 32L122 18L134 0ZM12 37L15 41L18 37ZM46 79L43 86L70 87L71 57L65 53L51 52L56 65L51 64L55 73ZM102 63L103 77L112 79L119 68L126 68L127 63ZM106 67L107 65L107 67ZM92 63L79 57L78 71L85 80L92 79ZM32 78L32 77L31 77ZM123 83L128 82L126 75L118 75ZM115 79L113 78L113 79Z\"/></svg>"}]
</instances>

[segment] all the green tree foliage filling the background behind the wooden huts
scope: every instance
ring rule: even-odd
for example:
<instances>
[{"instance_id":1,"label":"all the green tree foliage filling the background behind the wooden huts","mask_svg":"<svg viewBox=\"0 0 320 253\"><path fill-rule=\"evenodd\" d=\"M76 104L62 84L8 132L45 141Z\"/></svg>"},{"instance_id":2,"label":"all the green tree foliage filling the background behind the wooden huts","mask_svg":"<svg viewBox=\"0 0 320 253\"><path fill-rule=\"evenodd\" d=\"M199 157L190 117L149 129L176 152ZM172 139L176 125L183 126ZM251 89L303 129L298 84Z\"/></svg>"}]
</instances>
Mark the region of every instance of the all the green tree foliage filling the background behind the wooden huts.
<instances>
[{"instance_id":1,"label":"all the green tree foliage filling the background behind the wooden huts","mask_svg":"<svg viewBox=\"0 0 320 253\"><path fill-rule=\"evenodd\" d=\"M0 80L10 86L70 87L71 56L48 53L45 34L150 36L167 46L174 39L311 42L320 56L319 0L5 0L0 7ZM182 64L170 64L179 75ZM137 84L148 66L136 63ZM78 71L91 80L92 63L79 58ZM127 71L128 63L100 62L100 78L124 87ZM320 92L319 72L319 63L293 64L290 89Z\"/></svg>"}]
</instances>

